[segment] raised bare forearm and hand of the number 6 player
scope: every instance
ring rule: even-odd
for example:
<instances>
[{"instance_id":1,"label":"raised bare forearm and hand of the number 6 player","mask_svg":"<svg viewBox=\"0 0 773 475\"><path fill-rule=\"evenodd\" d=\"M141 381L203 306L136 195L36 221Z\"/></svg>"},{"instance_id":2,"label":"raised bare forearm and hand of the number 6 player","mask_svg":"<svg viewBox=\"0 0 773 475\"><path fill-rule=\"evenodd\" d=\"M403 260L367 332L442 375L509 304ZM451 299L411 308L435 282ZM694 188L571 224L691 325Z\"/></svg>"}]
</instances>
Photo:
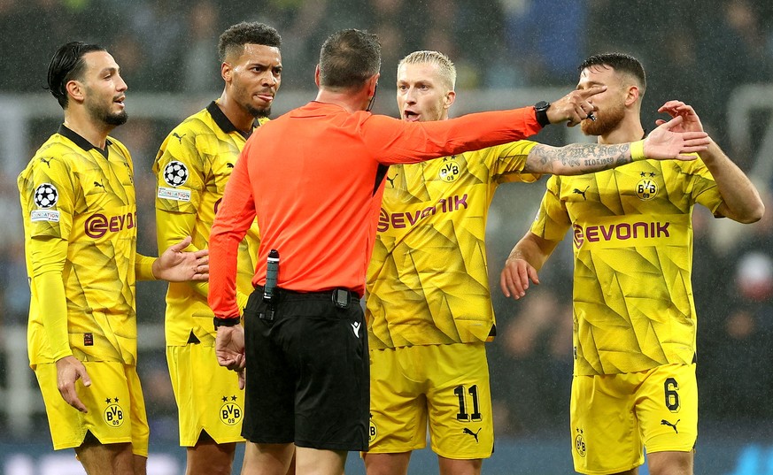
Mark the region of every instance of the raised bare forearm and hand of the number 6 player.
<instances>
[{"instance_id":1,"label":"raised bare forearm and hand of the number 6 player","mask_svg":"<svg viewBox=\"0 0 773 475\"><path fill-rule=\"evenodd\" d=\"M682 129L685 131L703 131L698 114L692 106L681 101L669 101L664 103L659 112L666 112L671 117L681 117ZM658 124L662 119L657 121ZM738 221L739 223L754 223L762 218L765 205L762 203L760 193L746 173L742 172L723 150L714 141L710 141L707 149L699 152L700 158L709 172L711 172L716 186L722 195L723 203L716 210L716 214Z\"/></svg>"}]
</instances>

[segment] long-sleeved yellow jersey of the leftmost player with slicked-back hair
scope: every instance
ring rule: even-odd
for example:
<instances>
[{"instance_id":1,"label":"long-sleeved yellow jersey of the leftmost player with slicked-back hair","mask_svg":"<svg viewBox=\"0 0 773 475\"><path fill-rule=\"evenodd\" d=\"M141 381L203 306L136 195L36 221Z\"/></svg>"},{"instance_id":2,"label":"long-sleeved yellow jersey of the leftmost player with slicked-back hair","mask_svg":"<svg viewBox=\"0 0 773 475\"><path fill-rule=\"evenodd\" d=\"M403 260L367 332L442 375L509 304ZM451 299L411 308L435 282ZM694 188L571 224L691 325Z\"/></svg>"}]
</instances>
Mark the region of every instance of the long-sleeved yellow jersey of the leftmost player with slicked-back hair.
<instances>
[{"instance_id":1,"label":"long-sleeved yellow jersey of the leftmost player with slicked-back hair","mask_svg":"<svg viewBox=\"0 0 773 475\"><path fill-rule=\"evenodd\" d=\"M40 274L62 263L66 325L73 355L88 361L136 362L136 206L128 150L108 138L93 147L66 126L37 150L19 174L24 218L30 363L51 363L66 341L49 341L50 302ZM67 242L51 255L50 239Z\"/></svg>"}]
</instances>

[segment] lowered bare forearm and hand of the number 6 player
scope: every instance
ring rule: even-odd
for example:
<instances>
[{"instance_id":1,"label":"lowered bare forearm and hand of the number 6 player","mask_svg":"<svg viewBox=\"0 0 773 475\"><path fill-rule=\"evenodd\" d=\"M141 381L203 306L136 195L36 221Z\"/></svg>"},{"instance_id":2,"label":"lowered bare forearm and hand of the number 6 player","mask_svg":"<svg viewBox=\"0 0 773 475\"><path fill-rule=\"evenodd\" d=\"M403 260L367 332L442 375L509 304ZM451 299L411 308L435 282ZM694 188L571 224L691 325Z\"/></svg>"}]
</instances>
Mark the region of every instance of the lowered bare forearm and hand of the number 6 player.
<instances>
[{"instance_id":1,"label":"lowered bare forearm and hand of the number 6 player","mask_svg":"<svg viewBox=\"0 0 773 475\"><path fill-rule=\"evenodd\" d=\"M510 251L510 256L505 261L505 268L499 275L502 293L506 297L512 296L518 300L526 295L529 280L539 285L537 271L542 269L558 243L559 241L548 241L528 231Z\"/></svg>"}]
</instances>

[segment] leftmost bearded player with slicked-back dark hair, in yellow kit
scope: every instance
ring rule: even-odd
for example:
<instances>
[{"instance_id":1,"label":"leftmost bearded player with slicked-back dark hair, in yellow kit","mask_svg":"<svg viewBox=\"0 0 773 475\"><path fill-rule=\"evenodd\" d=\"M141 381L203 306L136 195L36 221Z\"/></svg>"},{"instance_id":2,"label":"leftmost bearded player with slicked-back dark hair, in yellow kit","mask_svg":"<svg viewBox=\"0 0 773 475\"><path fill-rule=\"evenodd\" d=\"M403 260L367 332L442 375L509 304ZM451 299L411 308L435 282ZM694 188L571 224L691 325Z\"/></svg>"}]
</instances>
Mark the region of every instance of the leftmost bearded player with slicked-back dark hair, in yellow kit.
<instances>
[{"instance_id":1,"label":"leftmost bearded player with slicked-back dark hair, in yellow kit","mask_svg":"<svg viewBox=\"0 0 773 475\"><path fill-rule=\"evenodd\" d=\"M206 280L206 250L136 253L128 150L108 134L127 120L127 85L96 44L51 59L65 122L19 174L32 297L27 349L55 449L74 448L89 475L141 475L148 423L137 377L136 280Z\"/></svg>"}]
</instances>

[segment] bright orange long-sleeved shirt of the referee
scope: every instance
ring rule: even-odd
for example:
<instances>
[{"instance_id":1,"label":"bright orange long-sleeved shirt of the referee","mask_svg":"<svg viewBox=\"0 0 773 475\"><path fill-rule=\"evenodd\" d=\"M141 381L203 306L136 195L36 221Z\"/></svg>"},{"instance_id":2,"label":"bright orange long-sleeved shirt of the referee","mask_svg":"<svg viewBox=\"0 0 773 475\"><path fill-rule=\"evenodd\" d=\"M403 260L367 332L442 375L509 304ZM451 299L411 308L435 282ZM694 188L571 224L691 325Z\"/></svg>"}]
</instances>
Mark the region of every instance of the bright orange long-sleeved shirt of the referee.
<instances>
[{"instance_id":1,"label":"bright orange long-sleeved shirt of the referee","mask_svg":"<svg viewBox=\"0 0 773 475\"><path fill-rule=\"evenodd\" d=\"M209 303L239 316L236 251L258 216L262 241L253 285L280 254L278 287L362 295L387 165L483 149L540 130L534 108L435 122L405 122L336 104L308 103L251 135L226 186L210 236Z\"/></svg>"}]
</instances>

